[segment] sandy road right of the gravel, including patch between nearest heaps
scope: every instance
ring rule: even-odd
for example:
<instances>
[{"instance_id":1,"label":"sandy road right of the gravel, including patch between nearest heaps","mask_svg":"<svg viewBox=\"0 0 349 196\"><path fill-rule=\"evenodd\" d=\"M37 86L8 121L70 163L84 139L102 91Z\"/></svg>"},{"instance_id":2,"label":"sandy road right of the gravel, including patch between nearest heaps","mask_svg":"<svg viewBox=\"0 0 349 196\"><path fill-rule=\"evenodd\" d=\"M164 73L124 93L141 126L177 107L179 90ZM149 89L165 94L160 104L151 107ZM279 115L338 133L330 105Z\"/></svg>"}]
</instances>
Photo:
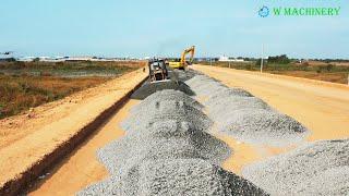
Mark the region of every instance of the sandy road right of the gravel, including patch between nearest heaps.
<instances>
[{"instance_id":1,"label":"sandy road right of the gravel, including patch between nearest heaps","mask_svg":"<svg viewBox=\"0 0 349 196\"><path fill-rule=\"evenodd\" d=\"M349 137L349 86L207 65L192 68L228 86L246 89L303 123L312 131L308 140ZM234 149L224 168L237 173L248 163L294 148L251 146L226 135L217 137Z\"/></svg>"}]
</instances>

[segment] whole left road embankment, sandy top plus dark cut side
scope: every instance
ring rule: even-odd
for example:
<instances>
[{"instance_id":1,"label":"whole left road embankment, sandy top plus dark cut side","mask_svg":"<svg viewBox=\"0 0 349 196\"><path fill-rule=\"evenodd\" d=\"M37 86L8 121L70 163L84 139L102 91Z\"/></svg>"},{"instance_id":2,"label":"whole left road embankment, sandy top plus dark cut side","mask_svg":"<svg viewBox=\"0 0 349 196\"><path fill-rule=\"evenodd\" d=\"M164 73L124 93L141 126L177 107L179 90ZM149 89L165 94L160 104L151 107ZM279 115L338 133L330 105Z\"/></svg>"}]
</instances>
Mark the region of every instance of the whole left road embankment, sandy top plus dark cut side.
<instances>
[{"instance_id":1,"label":"whole left road embankment, sandy top plus dark cut side","mask_svg":"<svg viewBox=\"0 0 349 196\"><path fill-rule=\"evenodd\" d=\"M0 121L0 195L16 195L103 125L146 78L137 70Z\"/></svg>"}]
</instances>

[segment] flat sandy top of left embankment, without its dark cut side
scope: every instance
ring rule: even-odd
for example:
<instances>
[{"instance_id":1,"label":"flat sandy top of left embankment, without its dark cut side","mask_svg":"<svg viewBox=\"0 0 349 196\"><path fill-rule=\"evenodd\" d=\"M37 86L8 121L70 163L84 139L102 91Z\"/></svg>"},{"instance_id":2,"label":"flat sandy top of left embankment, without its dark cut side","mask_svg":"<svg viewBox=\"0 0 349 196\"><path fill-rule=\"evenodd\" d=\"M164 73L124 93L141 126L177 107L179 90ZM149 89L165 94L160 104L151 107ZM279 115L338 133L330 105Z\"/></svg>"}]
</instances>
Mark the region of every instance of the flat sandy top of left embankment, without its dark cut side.
<instances>
[{"instance_id":1,"label":"flat sandy top of left embankment, without its dark cut side","mask_svg":"<svg viewBox=\"0 0 349 196\"><path fill-rule=\"evenodd\" d=\"M69 140L133 89L147 73L137 70L100 86L0 121L0 187Z\"/></svg>"}]
</instances>

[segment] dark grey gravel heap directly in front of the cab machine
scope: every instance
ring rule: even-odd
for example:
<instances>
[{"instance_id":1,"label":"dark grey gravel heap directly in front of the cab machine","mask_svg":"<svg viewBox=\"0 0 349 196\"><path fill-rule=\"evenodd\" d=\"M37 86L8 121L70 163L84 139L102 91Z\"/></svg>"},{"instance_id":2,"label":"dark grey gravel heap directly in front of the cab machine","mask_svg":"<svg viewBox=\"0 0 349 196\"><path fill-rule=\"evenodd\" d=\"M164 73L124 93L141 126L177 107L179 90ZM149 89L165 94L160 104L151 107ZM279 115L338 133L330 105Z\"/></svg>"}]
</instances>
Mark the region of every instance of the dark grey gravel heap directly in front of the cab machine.
<instances>
[{"instance_id":1,"label":"dark grey gravel heap directly in front of the cab machine","mask_svg":"<svg viewBox=\"0 0 349 196\"><path fill-rule=\"evenodd\" d=\"M161 81L156 83L149 83L147 81L131 95L131 98L143 100L147 96L164 89L180 90L190 96L194 95L194 93L190 89L190 87L185 83L181 81L168 79L168 81Z\"/></svg>"}]
</instances>

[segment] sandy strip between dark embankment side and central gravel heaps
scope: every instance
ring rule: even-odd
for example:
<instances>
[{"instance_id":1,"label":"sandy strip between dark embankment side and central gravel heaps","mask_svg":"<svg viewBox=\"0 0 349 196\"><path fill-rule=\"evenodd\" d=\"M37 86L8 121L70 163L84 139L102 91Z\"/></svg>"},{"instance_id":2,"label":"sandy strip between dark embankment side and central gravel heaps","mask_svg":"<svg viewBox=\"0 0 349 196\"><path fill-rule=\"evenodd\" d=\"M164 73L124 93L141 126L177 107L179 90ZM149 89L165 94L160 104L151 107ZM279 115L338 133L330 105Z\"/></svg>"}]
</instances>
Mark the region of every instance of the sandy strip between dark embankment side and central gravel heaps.
<instances>
[{"instance_id":1,"label":"sandy strip between dark embankment side and central gravel heaps","mask_svg":"<svg viewBox=\"0 0 349 196\"><path fill-rule=\"evenodd\" d=\"M58 166L51 175L38 183L29 195L74 195L77 191L108 176L96 158L98 148L120 138L124 132L119 123L127 118L132 106L140 100L130 100L84 145Z\"/></svg>"}]
</instances>

